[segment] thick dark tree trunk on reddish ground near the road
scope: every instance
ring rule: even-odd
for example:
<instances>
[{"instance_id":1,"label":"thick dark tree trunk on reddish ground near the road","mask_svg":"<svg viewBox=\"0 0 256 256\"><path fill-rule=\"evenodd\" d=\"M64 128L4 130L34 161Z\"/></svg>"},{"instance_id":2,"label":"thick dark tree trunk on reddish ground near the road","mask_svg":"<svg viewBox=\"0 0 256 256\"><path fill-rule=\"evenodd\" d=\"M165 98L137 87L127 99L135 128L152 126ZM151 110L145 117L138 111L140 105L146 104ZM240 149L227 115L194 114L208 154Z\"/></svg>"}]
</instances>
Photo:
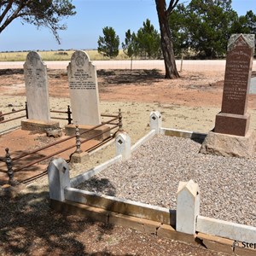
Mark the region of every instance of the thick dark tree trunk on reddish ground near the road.
<instances>
[{"instance_id":1,"label":"thick dark tree trunk on reddish ground near the road","mask_svg":"<svg viewBox=\"0 0 256 256\"><path fill-rule=\"evenodd\" d=\"M168 24L168 15L166 12L166 0L155 0L156 9L160 25L161 49L164 55L166 67L166 79L177 79L175 56L172 44L172 35Z\"/></svg>"}]
</instances>

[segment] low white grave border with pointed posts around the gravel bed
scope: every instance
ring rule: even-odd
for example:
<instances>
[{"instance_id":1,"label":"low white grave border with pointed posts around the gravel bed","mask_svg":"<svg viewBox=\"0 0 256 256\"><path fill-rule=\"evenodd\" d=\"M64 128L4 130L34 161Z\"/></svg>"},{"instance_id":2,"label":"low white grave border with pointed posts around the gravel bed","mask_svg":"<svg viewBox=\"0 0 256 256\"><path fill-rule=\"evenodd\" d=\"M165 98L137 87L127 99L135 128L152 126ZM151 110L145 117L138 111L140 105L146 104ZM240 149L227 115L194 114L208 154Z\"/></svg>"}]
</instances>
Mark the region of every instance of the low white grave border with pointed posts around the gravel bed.
<instances>
[{"instance_id":1,"label":"low white grave border with pointed posts around the gravel bed","mask_svg":"<svg viewBox=\"0 0 256 256\"><path fill-rule=\"evenodd\" d=\"M200 191L192 180L179 183L177 211L73 188L108 166L129 159L131 152L155 134L196 140L203 140L207 136L199 132L162 128L159 112L150 113L150 128L151 131L132 147L128 134L119 133L116 138L118 155L72 179L69 178L64 160L53 160L48 167L51 207L57 211L82 214L108 224L201 245L230 255L255 255L256 248L243 247L243 242L256 245L256 227L201 216Z\"/></svg>"}]
</instances>

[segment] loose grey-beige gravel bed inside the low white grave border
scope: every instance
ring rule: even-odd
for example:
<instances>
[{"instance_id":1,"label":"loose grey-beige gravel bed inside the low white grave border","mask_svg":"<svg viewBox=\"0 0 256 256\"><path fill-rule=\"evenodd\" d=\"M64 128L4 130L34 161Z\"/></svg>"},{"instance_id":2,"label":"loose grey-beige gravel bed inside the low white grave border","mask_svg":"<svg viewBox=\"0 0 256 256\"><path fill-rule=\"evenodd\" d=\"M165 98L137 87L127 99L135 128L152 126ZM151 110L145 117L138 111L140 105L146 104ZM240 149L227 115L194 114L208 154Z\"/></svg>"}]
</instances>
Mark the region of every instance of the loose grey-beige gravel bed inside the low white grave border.
<instances>
[{"instance_id":1,"label":"loose grey-beige gravel bed inside the low white grave border","mask_svg":"<svg viewBox=\"0 0 256 256\"><path fill-rule=\"evenodd\" d=\"M190 139L154 137L130 160L79 189L176 209L179 181L193 179L201 191L202 216L256 226L256 158L199 154L200 147Z\"/></svg>"}]
</instances>

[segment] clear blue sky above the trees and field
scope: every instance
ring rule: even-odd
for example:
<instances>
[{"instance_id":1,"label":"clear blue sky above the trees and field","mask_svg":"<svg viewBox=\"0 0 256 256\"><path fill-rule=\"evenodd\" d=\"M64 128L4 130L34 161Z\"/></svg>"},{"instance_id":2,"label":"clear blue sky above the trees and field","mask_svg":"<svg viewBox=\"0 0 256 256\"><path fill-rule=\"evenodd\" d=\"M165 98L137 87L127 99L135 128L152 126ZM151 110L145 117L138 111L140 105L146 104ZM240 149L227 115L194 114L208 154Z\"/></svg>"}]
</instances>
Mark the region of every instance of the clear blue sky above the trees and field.
<instances>
[{"instance_id":1,"label":"clear blue sky above the trees and field","mask_svg":"<svg viewBox=\"0 0 256 256\"><path fill-rule=\"evenodd\" d=\"M60 32L60 45L48 29L38 30L35 26L21 25L20 20L15 20L0 34L0 51L96 49L102 27L113 26L120 42L123 42L125 32L128 29L137 32L146 19L159 29L154 0L73 0L73 5L77 15L63 20L67 30ZM256 13L255 0L233 0L232 7L238 15L245 15L250 9Z\"/></svg>"}]
</instances>

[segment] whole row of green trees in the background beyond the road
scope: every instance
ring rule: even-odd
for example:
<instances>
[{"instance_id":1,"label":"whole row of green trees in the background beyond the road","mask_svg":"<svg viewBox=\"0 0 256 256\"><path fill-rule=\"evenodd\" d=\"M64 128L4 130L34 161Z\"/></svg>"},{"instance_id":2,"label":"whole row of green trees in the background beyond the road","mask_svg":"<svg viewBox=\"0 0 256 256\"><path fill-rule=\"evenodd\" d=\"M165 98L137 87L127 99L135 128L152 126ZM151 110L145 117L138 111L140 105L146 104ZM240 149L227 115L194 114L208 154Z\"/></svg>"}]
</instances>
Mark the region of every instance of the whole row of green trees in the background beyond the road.
<instances>
[{"instance_id":1,"label":"whole row of green trees in the background beyond the road","mask_svg":"<svg viewBox=\"0 0 256 256\"><path fill-rule=\"evenodd\" d=\"M231 0L192 0L188 5L177 4L168 15L168 25L176 56L200 59L223 57L232 33L256 33L256 15L252 10L246 15L237 15ZM119 36L113 27L103 28L104 37L99 37L98 51L113 58L119 54ZM160 33L150 20L143 22L137 33L129 29L121 44L126 55L158 59L162 57Z\"/></svg>"}]
</instances>

